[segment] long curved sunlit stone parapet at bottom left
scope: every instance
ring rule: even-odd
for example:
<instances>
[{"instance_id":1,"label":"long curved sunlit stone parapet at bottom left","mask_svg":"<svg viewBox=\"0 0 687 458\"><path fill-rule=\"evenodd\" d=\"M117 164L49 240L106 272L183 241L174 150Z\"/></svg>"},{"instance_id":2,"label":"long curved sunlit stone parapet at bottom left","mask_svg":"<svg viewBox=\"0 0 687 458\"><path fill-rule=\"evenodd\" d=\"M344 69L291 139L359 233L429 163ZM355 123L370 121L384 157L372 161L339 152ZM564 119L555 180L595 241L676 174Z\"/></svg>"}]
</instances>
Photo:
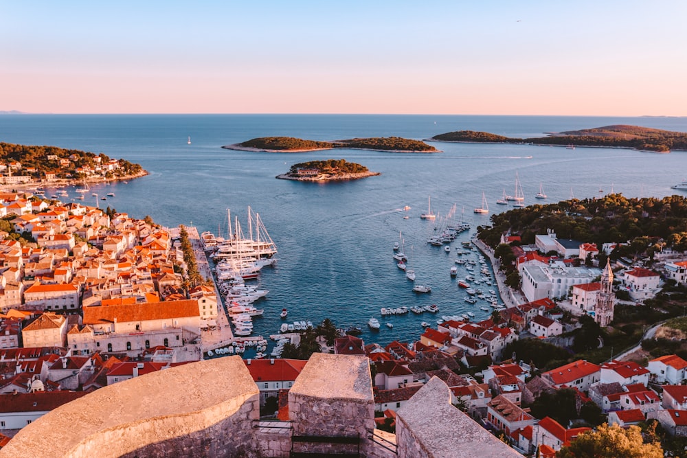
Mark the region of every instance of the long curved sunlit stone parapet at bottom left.
<instances>
[{"instance_id":1,"label":"long curved sunlit stone parapet at bottom left","mask_svg":"<svg viewBox=\"0 0 687 458\"><path fill-rule=\"evenodd\" d=\"M217 358L69 402L23 428L0 458L256 457L259 411L258 387L241 358Z\"/></svg>"}]
</instances>

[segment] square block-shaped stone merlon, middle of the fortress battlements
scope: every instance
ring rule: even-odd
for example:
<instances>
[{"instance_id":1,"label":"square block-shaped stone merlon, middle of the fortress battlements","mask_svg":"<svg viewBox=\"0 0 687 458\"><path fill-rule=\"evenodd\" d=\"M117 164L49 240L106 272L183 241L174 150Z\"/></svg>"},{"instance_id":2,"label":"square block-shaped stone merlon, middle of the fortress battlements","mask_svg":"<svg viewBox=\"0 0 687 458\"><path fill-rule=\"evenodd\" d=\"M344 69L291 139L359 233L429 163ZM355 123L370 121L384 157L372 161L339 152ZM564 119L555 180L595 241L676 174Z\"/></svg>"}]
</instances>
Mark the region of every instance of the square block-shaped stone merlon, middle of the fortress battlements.
<instances>
[{"instance_id":1,"label":"square block-shaped stone merlon, middle of the fortress battlements","mask_svg":"<svg viewBox=\"0 0 687 458\"><path fill-rule=\"evenodd\" d=\"M368 358L315 353L289 391L293 435L359 437L363 456L371 447L374 396ZM296 451L351 453L358 444L296 443Z\"/></svg>"}]
</instances>

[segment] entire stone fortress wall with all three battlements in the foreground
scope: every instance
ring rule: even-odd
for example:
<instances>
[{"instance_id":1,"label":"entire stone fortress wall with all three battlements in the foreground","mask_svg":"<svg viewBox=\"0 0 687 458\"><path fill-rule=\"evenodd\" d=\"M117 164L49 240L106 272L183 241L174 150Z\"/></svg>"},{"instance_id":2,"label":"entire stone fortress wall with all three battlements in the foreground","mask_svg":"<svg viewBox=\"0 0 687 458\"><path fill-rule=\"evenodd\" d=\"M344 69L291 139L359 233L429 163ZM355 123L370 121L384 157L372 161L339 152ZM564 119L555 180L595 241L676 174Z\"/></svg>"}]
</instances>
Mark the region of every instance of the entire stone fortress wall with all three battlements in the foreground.
<instances>
[{"instance_id":1,"label":"entire stone fortress wall with all three battlements in the foreground","mask_svg":"<svg viewBox=\"0 0 687 458\"><path fill-rule=\"evenodd\" d=\"M281 422L282 428L259 427L258 396L240 356L182 365L104 387L47 413L0 450L0 458L264 458L292 451L521 457L451 406L438 378L398 412L396 453L380 447L372 440L370 367L360 356L313 354L289 391L290 422Z\"/></svg>"}]
</instances>

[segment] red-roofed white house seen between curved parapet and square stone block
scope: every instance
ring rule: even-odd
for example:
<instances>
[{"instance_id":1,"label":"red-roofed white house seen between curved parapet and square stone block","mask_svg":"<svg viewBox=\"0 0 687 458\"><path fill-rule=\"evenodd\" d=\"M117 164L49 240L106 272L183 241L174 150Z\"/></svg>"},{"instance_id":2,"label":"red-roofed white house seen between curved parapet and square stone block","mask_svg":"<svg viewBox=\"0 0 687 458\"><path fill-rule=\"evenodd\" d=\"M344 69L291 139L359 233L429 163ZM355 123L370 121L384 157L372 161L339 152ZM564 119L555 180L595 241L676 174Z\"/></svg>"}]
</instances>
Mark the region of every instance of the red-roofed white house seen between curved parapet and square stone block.
<instances>
[{"instance_id":1,"label":"red-roofed white house seen between curved parapet and square stone block","mask_svg":"<svg viewBox=\"0 0 687 458\"><path fill-rule=\"evenodd\" d=\"M243 360L260 390L260 404L270 396L276 397L280 389L293 386L296 377L308 362L300 359L246 359Z\"/></svg>"}]
</instances>

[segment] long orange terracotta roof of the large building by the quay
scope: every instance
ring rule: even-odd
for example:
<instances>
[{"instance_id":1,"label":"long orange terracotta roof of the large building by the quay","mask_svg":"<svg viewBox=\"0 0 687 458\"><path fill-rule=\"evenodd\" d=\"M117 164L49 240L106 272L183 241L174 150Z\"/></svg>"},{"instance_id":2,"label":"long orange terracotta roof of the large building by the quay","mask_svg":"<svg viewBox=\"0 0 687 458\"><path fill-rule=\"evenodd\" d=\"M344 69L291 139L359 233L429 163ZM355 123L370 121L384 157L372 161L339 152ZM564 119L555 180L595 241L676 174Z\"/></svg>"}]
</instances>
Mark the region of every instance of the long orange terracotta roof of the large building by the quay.
<instances>
[{"instance_id":1,"label":"long orange terracotta roof of the large building by the quay","mask_svg":"<svg viewBox=\"0 0 687 458\"><path fill-rule=\"evenodd\" d=\"M158 319L199 317L198 301L144 302L114 306L91 306L83 308L84 324L120 323Z\"/></svg>"}]
</instances>

